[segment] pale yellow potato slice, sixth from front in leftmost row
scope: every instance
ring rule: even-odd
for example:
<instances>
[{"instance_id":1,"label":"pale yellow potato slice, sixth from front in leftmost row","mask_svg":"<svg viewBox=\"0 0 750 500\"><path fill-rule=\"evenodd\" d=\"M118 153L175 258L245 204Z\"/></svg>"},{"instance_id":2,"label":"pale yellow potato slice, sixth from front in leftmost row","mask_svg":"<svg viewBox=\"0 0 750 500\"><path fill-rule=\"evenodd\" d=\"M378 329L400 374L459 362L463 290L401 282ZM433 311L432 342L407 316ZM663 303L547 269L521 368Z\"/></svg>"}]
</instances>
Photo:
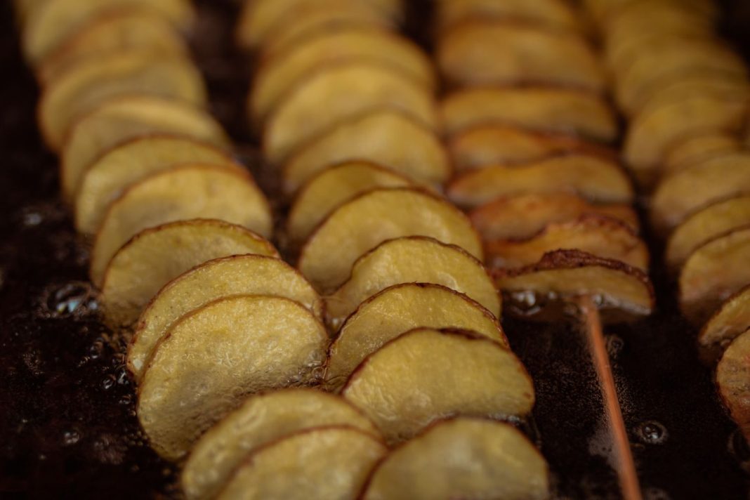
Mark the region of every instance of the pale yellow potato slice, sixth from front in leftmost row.
<instances>
[{"instance_id":1,"label":"pale yellow potato slice, sixth from front in leftmost row","mask_svg":"<svg viewBox=\"0 0 750 500\"><path fill-rule=\"evenodd\" d=\"M149 227L176 220L217 219L269 238L271 208L247 172L218 165L177 166L128 187L107 210L91 256L93 283L101 286L112 256Z\"/></svg>"}]
</instances>

